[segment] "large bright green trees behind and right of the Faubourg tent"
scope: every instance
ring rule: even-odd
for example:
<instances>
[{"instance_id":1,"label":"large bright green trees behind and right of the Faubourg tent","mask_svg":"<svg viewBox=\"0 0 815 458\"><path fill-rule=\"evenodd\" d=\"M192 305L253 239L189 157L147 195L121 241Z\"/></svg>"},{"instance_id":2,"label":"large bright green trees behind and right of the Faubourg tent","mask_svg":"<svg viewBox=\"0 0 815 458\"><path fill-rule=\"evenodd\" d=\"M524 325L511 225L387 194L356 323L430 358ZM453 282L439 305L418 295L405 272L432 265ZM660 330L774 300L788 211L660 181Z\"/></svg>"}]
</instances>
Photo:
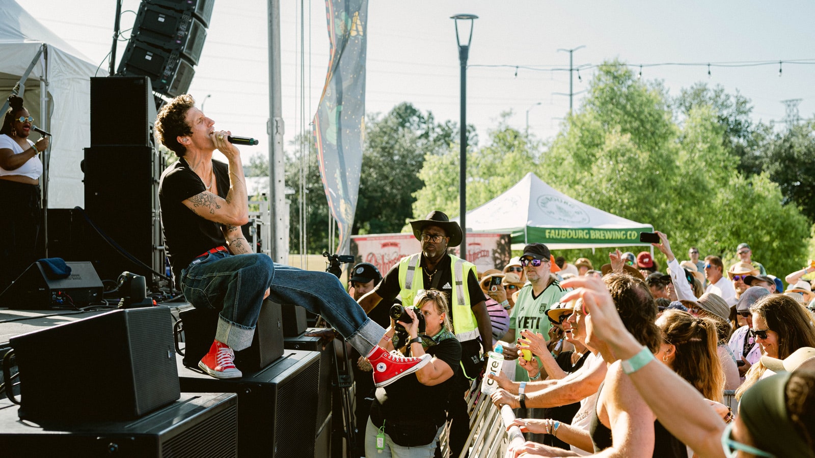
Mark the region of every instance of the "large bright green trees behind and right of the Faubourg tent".
<instances>
[{"instance_id":1,"label":"large bright green trees behind and right of the Faubourg tent","mask_svg":"<svg viewBox=\"0 0 815 458\"><path fill-rule=\"evenodd\" d=\"M734 262L736 245L746 241L770 273L795 271L806 258L810 223L796 205L785 204L771 174L739 170L733 145L747 144L749 128L738 117L749 108L738 95L729 99L698 87L694 94L686 96L693 103L674 113L659 83L638 80L623 64L604 65L544 155L541 178L589 205L666 232L680 258L694 245L703 255ZM599 267L607 251L570 254Z\"/></svg>"}]
</instances>

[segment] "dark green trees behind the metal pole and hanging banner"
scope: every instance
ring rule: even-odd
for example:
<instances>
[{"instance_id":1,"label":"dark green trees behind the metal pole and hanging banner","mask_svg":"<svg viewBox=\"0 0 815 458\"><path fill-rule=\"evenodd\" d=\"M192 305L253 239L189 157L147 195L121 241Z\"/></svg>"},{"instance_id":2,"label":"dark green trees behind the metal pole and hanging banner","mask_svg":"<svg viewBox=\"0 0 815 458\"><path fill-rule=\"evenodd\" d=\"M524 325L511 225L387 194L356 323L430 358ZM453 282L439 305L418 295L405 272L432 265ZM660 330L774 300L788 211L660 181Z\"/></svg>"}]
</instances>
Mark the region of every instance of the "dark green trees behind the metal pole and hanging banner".
<instances>
[{"instance_id":1,"label":"dark green trees behind the metal pole and hanging banner","mask_svg":"<svg viewBox=\"0 0 815 458\"><path fill-rule=\"evenodd\" d=\"M359 199L353 234L399 232L412 215L412 196L423 186L418 177L425 156L440 156L458 134L452 121L435 121L430 112L423 113L410 103L401 103L381 116L368 114ZM471 134L474 138L474 134ZM314 142L309 145L306 167L306 252L322 253L328 249L328 202L319 176ZM289 195L289 247L300 251L300 148L299 139L292 143L294 152L286 155L286 186ZM253 157L248 170L260 176L268 174L265 158Z\"/></svg>"}]
</instances>

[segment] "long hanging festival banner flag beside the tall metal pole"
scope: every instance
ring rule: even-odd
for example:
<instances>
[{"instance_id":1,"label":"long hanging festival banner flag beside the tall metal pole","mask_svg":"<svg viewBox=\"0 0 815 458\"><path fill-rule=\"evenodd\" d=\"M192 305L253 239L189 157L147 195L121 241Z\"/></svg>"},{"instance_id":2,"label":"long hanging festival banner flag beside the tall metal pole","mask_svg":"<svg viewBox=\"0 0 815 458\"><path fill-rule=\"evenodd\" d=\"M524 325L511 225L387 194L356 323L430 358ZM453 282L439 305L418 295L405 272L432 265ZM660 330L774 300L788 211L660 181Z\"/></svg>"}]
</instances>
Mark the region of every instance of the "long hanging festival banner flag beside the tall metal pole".
<instances>
[{"instance_id":1,"label":"long hanging festival banner flag beside the tall metal pole","mask_svg":"<svg viewBox=\"0 0 815 458\"><path fill-rule=\"evenodd\" d=\"M365 30L368 0L326 0L328 75L314 117L319 173L337 220L336 253L350 249L365 140Z\"/></svg>"}]
</instances>

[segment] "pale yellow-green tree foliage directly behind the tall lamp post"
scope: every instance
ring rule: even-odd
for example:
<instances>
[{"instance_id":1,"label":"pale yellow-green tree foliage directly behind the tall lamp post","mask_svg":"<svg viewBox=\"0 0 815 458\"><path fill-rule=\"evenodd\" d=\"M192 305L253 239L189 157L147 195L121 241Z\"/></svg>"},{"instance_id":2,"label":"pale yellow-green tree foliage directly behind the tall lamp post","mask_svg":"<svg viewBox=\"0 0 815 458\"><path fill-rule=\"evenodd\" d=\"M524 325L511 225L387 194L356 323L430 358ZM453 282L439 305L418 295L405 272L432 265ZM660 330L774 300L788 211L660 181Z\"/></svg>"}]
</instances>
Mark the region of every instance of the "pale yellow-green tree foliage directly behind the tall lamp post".
<instances>
[{"instance_id":1,"label":"pale yellow-green tree foliage directly behind the tall lamp post","mask_svg":"<svg viewBox=\"0 0 815 458\"><path fill-rule=\"evenodd\" d=\"M487 144L467 154L467 207L473 209L513 187L528 172L537 171L540 143L507 125L504 113ZM413 216L424 218L432 210L459 214L460 146L453 143L443 155L426 155L419 178L425 186L415 192Z\"/></svg>"}]
</instances>

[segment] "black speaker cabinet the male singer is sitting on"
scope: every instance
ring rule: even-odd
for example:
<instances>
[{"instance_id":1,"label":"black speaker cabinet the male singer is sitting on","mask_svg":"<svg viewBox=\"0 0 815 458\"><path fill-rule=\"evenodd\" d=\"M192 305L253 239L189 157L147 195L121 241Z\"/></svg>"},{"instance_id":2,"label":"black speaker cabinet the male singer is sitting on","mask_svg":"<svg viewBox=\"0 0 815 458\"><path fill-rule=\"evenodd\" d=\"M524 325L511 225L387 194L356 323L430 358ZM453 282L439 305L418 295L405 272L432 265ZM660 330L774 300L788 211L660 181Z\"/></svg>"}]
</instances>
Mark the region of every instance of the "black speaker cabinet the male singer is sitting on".
<instances>
[{"instance_id":1,"label":"black speaker cabinet the male singer is sitting on","mask_svg":"<svg viewBox=\"0 0 815 458\"><path fill-rule=\"evenodd\" d=\"M215 339L218 310L192 308L179 315L184 330L183 363L189 368L197 368ZM281 327L280 305L268 299L263 301L252 345L235 353L235 365L241 372L256 372L283 355Z\"/></svg>"}]
</instances>

